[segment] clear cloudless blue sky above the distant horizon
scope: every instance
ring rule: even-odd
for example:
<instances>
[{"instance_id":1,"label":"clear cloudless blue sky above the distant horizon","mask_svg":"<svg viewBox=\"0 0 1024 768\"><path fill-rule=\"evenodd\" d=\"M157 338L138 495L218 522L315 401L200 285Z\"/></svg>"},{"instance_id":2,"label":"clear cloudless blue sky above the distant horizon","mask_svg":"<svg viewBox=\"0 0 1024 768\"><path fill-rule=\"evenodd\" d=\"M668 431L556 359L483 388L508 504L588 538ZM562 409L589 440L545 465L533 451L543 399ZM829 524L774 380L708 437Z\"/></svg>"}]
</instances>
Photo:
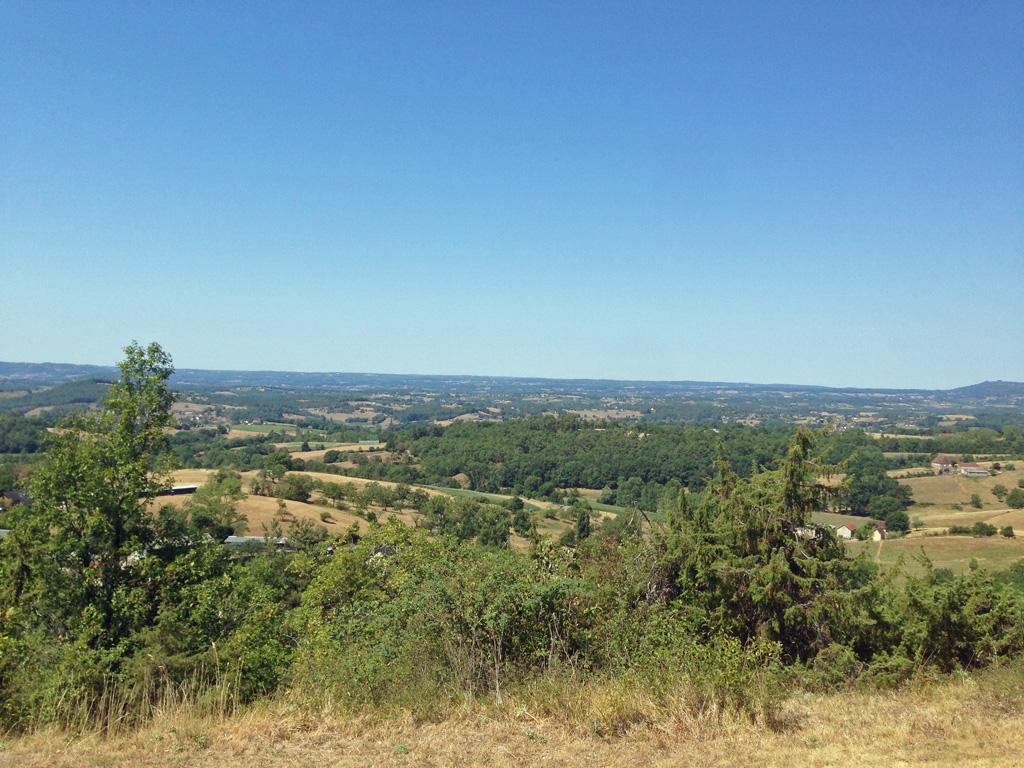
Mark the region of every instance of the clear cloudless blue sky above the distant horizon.
<instances>
[{"instance_id":1,"label":"clear cloudless blue sky above the distant horizon","mask_svg":"<svg viewBox=\"0 0 1024 768\"><path fill-rule=\"evenodd\" d=\"M1024 4L0 4L0 359L1024 380Z\"/></svg>"}]
</instances>

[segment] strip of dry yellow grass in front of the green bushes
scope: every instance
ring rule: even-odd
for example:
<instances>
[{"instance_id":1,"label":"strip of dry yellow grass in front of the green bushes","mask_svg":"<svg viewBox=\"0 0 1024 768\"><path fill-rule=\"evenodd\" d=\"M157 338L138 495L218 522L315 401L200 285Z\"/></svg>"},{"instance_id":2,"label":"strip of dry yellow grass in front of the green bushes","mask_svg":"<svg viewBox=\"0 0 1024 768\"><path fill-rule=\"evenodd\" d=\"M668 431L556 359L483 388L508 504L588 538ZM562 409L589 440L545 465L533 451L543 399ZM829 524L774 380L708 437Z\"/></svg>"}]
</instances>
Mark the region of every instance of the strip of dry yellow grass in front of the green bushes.
<instances>
[{"instance_id":1,"label":"strip of dry yellow grass in front of the green bushes","mask_svg":"<svg viewBox=\"0 0 1024 768\"><path fill-rule=\"evenodd\" d=\"M170 713L110 738L58 731L16 737L3 745L0 766L1010 768L1024 761L1018 681L987 675L894 694L799 694L783 705L775 728L739 717L672 720L617 737L538 716L528 701L469 707L436 723L316 717L279 702L219 719ZM602 701L582 712L595 706Z\"/></svg>"}]
</instances>

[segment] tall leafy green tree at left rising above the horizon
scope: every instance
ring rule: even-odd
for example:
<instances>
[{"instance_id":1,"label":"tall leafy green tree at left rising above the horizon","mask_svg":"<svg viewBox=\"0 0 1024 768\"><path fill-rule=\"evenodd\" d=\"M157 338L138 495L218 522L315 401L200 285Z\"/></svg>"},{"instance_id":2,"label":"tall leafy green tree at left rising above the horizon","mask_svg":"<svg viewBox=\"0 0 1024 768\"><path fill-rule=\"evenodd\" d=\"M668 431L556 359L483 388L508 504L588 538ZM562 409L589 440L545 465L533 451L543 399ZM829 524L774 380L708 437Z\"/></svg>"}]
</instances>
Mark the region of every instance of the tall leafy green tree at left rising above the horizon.
<instances>
[{"instance_id":1,"label":"tall leafy green tree at left rising above the horizon","mask_svg":"<svg viewBox=\"0 0 1024 768\"><path fill-rule=\"evenodd\" d=\"M14 597L60 637L116 645L141 606L128 599L133 557L152 542L147 503L169 476L167 446L174 369L159 344L132 343L100 411L51 437L32 478L31 505L11 536L18 562Z\"/></svg>"}]
</instances>

